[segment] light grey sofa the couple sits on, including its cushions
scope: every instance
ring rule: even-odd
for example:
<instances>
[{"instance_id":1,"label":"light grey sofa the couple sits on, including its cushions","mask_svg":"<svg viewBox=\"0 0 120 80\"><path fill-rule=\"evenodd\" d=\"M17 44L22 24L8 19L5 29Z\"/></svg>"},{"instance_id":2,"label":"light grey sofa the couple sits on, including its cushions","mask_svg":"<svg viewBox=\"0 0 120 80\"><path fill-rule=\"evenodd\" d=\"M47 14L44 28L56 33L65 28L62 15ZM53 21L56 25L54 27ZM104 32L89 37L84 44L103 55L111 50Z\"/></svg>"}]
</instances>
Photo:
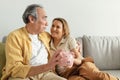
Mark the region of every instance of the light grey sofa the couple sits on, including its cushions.
<instances>
[{"instance_id":1,"label":"light grey sofa the couple sits on, including its cushions","mask_svg":"<svg viewBox=\"0 0 120 80\"><path fill-rule=\"evenodd\" d=\"M119 36L87 36L76 38L80 43L82 56L90 56L96 66L120 79L120 37ZM5 44L0 43L0 78L5 65Z\"/></svg>"}]
</instances>

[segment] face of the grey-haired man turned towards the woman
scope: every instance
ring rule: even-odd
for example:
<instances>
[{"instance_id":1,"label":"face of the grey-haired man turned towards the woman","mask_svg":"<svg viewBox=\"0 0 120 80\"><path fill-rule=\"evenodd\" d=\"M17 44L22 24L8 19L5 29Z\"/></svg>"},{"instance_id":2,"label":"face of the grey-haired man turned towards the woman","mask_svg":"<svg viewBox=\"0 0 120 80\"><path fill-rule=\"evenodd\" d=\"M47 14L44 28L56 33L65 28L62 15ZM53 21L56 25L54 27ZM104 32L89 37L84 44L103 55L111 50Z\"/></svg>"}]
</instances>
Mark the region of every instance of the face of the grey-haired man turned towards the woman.
<instances>
[{"instance_id":1,"label":"face of the grey-haired man turned towards the woman","mask_svg":"<svg viewBox=\"0 0 120 80\"><path fill-rule=\"evenodd\" d=\"M36 34L39 34L41 32L44 32L47 26L47 16L42 8L37 8L37 14L38 14L38 19L34 21L33 27L34 27L34 32Z\"/></svg>"}]
</instances>

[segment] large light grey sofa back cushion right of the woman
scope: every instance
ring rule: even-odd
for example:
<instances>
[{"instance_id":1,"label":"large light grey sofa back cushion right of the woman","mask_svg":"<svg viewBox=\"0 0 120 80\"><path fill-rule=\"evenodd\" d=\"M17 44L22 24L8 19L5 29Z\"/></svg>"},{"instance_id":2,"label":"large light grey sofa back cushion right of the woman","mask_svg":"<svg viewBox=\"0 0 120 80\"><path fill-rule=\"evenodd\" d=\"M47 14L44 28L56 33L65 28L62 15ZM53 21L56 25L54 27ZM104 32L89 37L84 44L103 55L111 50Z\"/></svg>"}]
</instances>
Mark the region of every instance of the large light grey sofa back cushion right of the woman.
<instances>
[{"instance_id":1,"label":"large light grey sofa back cushion right of the woman","mask_svg":"<svg viewBox=\"0 0 120 80\"><path fill-rule=\"evenodd\" d=\"M83 36L84 57L91 56L100 69L120 69L120 37Z\"/></svg>"}]
</instances>

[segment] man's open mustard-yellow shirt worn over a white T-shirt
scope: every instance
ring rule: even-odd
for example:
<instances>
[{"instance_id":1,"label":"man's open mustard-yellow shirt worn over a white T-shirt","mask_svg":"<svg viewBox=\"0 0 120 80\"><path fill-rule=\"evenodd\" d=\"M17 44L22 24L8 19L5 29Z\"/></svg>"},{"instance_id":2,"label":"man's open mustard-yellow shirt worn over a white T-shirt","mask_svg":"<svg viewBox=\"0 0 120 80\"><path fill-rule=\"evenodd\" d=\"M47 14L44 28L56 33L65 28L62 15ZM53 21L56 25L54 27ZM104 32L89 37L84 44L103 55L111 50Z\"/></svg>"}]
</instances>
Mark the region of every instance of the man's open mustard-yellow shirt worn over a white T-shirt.
<instances>
[{"instance_id":1,"label":"man's open mustard-yellow shirt worn over a white T-shirt","mask_svg":"<svg viewBox=\"0 0 120 80\"><path fill-rule=\"evenodd\" d=\"M47 32L39 34L39 39L44 43L48 55L50 56L50 35ZM1 80L7 80L8 77L25 78L31 68L29 64L32 47L31 39L25 27L11 32L6 40L6 66L3 69ZM48 58L49 58L48 56Z\"/></svg>"}]
</instances>

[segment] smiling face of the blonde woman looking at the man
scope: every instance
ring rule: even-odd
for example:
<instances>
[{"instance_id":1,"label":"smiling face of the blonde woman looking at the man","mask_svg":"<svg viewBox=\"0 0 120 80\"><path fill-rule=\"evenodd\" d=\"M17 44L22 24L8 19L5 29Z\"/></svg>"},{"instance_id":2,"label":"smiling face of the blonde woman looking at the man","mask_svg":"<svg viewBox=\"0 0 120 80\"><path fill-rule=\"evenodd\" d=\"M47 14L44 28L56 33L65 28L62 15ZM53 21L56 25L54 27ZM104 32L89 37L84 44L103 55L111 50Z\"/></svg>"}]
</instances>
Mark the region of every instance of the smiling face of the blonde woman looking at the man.
<instances>
[{"instance_id":1,"label":"smiling face of the blonde woman looking at the man","mask_svg":"<svg viewBox=\"0 0 120 80\"><path fill-rule=\"evenodd\" d=\"M51 26L51 36L61 39L64 35L63 25L59 20L54 20Z\"/></svg>"}]
</instances>

